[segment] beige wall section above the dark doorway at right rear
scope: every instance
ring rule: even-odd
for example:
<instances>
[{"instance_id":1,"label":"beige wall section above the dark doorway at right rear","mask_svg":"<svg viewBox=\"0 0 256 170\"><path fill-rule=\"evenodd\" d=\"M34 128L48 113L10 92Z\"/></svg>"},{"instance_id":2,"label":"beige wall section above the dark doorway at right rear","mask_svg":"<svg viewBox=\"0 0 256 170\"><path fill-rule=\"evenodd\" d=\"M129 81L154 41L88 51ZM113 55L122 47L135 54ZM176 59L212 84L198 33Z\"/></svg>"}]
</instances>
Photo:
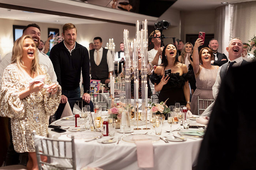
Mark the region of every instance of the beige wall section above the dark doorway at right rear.
<instances>
[{"instance_id":1,"label":"beige wall section above the dark doorway at right rear","mask_svg":"<svg viewBox=\"0 0 256 170\"><path fill-rule=\"evenodd\" d=\"M200 31L214 33L215 10L181 11L181 40L186 41L186 34Z\"/></svg>"}]
</instances>

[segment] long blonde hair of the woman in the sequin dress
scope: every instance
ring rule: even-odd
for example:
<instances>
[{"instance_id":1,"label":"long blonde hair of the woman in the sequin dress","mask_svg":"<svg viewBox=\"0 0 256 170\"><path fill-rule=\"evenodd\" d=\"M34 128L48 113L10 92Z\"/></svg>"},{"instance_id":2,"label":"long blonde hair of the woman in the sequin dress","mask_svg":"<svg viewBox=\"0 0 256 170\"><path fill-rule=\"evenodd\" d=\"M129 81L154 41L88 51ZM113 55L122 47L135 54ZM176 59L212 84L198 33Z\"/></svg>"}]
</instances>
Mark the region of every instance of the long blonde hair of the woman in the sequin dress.
<instances>
[{"instance_id":1,"label":"long blonde hair of the woman in the sequin dress","mask_svg":"<svg viewBox=\"0 0 256 170\"><path fill-rule=\"evenodd\" d=\"M18 38L15 42L14 42L14 46L12 48L12 59L11 59L11 63L16 63L17 67L19 68L20 72L20 76L24 76L25 75L25 66L23 63L23 42L25 39L30 38L31 40L33 40L29 35L23 35L22 37ZM34 40L33 40L34 42ZM35 45L35 42L34 42ZM38 64L38 55L37 55L37 48L35 45L35 52L34 52L34 56L35 58L32 60L32 65L31 65L31 73L32 75L34 74L35 76L37 75L43 75L44 72L42 71L42 69L40 68L39 64Z\"/></svg>"}]
</instances>

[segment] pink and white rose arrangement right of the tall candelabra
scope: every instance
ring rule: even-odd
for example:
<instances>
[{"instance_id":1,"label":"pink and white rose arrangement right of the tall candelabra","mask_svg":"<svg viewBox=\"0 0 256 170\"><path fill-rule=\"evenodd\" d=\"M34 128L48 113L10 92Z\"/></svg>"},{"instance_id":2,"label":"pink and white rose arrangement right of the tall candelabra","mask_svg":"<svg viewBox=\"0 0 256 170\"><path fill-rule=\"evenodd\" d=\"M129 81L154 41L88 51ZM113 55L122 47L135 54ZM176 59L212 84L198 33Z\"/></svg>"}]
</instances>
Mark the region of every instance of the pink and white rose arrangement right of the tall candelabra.
<instances>
[{"instance_id":1,"label":"pink and white rose arrangement right of the tall candelabra","mask_svg":"<svg viewBox=\"0 0 256 170\"><path fill-rule=\"evenodd\" d=\"M161 103L149 102L150 106L148 108L151 109L151 112L155 113L156 115L161 115L163 120L165 120L167 119L168 112L170 112L170 108L166 106L166 101Z\"/></svg>"}]
</instances>

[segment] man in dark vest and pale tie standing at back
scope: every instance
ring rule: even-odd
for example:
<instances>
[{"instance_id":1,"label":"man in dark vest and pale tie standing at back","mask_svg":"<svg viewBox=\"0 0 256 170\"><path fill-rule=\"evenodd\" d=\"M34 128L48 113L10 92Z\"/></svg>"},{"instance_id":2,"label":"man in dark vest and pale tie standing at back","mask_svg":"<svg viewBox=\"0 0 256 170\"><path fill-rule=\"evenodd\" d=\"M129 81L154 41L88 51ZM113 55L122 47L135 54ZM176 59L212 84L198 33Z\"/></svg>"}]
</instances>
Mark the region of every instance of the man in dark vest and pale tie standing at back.
<instances>
[{"instance_id":1,"label":"man in dark vest and pale tie standing at back","mask_svg":"<svg viewBox=\"0 0 256 170\"><path fill-rule=\"evenodd\" d=\"M93 39L94 49L90 50L91 79L101 80L101 83L110 82L110 73L113 74L113 57L108 49L102 48L101 37Z\"/></svg>"}]
</instances>

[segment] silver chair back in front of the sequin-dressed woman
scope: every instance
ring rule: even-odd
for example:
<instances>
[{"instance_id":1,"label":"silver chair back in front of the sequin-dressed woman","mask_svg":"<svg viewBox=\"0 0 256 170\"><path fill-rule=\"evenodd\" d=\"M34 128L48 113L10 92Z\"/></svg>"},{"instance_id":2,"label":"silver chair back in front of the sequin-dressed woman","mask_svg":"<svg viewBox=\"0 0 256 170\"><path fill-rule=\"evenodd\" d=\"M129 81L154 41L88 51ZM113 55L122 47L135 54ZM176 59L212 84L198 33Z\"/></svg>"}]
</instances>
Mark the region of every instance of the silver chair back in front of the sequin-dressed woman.
<instances>
[{"instance_id":1,"label":"silver chair back in front of the sequin-dressed woman","mask_svg":"<svg viewBox=\"0 0 256 170\"><path fill-rule=\"evenodd\" d=\"M74 137L71 141L50 139L42 137L33 132L35 142L35 152L37 155L38 168L42 165L49 166L48 169L73 169L76 170L75 142ZM41 155L50 158L51 163L42 162Z\"/></svg>"}]
</instances>

